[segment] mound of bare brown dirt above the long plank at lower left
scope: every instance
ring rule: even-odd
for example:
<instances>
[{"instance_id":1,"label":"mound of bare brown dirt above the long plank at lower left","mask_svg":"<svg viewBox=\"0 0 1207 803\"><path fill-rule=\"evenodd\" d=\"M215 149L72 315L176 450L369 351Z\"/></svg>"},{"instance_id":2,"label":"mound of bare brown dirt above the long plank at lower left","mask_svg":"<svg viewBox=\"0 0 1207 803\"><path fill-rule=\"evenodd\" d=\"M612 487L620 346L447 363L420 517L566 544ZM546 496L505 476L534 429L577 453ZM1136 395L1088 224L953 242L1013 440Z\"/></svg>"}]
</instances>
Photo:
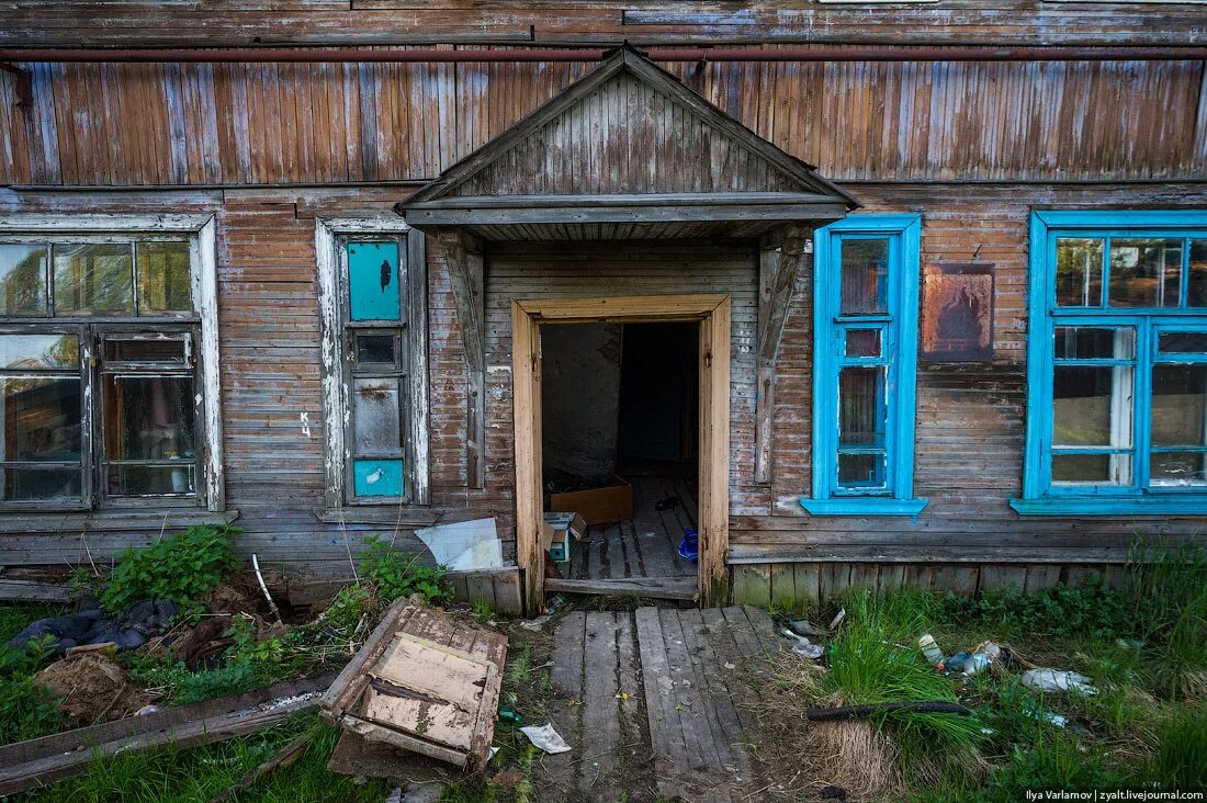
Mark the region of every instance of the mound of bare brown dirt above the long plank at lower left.
<instances>
[{"instance_id":1,"label":"mound of bare brown dirt above the long plank at lower left","mask_svg":"<svg viewBox=\"0 0 1207 803\"><path fill-rule=\"evenodd\" d=\"M37 673L34 683L59 698L60 710L81 726L130 716L156 699L132 686L126 670L98 652L57 661Z\"/></svg>"}]
</instances>

